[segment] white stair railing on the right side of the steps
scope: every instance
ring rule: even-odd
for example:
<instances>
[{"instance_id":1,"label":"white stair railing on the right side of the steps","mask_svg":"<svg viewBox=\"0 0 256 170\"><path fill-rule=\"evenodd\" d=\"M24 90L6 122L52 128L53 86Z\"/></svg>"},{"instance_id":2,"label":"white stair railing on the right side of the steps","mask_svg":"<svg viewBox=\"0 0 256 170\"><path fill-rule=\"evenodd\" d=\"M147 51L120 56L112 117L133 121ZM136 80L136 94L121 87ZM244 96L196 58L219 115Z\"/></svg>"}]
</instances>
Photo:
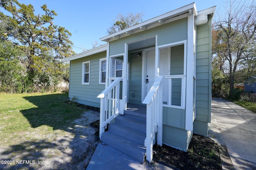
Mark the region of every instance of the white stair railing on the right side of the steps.
<instances>
[{"instance_id":1,"label":"white stair railing on the right side of the steps","mask_svg":"<svg viewBox=\"0 0 256 170\"><path fill-rule=\"evenodd\" d=\"M147 105L146 113L146 160L149 162L153 159L153 142L157 132L157 144L162 146L162 80L163 76L158 76L150 88L146 98L142 102Z\"/></svg>"}]
</instances>

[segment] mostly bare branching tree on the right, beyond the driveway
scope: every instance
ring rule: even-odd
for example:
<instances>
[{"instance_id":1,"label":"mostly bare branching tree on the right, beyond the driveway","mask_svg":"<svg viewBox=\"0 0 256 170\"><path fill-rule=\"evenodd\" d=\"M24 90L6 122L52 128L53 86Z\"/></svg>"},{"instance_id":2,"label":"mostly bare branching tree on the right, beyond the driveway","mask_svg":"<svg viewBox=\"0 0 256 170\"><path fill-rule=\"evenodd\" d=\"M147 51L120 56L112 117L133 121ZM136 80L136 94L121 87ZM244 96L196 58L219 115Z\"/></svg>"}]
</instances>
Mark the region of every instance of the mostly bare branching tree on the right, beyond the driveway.
<instances>
[{"instance_id":1,"label":"mostly bare branching tree on the right, beyond the driveway","mask_svg":"<svg viewBox=\"0 0 256 170\"><path fill-rule=\"evenodd\" d=\"M230 0L226 11L214 23L219 47L216 46L214 55L221 62L228 64L230 95L234 88L236 71L242 67L241 61L248 58L246 53L255 49L256 35L256 5L254 1ZM222 66L223 66L222 65ZM221 66L221 65L220 65ZM221 68L220 68L221 69ZM224 69L223 69L224 70ZM225 71L225 70L224 70Z\"/></svg>"}]
</instances>

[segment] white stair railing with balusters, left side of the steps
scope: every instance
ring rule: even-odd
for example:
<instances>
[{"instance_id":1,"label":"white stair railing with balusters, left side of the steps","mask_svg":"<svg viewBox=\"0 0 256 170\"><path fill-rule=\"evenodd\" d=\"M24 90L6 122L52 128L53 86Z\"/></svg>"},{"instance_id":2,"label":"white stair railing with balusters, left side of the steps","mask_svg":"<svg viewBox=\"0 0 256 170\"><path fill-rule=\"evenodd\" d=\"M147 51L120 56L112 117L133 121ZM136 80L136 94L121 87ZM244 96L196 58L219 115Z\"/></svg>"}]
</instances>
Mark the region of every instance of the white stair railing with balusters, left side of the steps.
<instances>
[{"instance_id":1,"label":"white stair railing with balusters, left side of the steps","mask_svg":"<svg viewBox=\"0 0 256 170\"><path fill-rule=\"evenodd\" d=\"M120 82L122 78L116 78L101 94L100 98L100 139L105 132L107 124L110 123L119 113L120 104Z\"/></svg>"}]
</instances>

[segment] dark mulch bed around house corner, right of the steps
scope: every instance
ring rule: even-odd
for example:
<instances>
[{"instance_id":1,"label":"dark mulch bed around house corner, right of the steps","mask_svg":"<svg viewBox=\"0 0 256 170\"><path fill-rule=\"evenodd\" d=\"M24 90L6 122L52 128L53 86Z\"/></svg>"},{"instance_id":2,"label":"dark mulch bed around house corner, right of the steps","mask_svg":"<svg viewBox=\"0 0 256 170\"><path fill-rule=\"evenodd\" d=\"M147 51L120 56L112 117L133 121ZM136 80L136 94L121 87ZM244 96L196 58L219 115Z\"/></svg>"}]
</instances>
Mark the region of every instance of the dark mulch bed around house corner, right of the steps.
<instances>
[{"instance_id":1,"label":"dark mulch bed around house corner, right of the steps","mask_svg":"<svg viewBox=\"0 0 256 170\"><path fill-rule=\"evenodd\" d=\"M188 151L154 145L153 158L181 170L221 170L218 145L210 138L193 134Z\"/></svg>"}]
</instances>

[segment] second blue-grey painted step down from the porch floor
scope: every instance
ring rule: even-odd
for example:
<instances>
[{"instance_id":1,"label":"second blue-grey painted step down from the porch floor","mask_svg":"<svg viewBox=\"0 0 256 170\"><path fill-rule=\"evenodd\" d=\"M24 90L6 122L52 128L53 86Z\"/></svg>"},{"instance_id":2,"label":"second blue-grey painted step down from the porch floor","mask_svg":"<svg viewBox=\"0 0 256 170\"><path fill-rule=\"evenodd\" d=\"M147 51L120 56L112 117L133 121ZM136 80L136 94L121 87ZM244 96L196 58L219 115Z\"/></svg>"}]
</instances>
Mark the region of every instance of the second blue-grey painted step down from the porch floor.
<instances>
[{"instance_id":1,"label":"second blue-grey painted step down from the porch floor","mask_svg":"<svg viewBox=\"0 0 256 170\"><path fill-rule=\"evenodd\" d=\"M144 141L146 139L145 132L138 131L137 129L133 129L130 127L126 127L118 122L110 124L108 126L108 131L111 131L112 133L116 133L129 140L135 141L141 145L144 145Z\"/></svg>"}]
</instances>

